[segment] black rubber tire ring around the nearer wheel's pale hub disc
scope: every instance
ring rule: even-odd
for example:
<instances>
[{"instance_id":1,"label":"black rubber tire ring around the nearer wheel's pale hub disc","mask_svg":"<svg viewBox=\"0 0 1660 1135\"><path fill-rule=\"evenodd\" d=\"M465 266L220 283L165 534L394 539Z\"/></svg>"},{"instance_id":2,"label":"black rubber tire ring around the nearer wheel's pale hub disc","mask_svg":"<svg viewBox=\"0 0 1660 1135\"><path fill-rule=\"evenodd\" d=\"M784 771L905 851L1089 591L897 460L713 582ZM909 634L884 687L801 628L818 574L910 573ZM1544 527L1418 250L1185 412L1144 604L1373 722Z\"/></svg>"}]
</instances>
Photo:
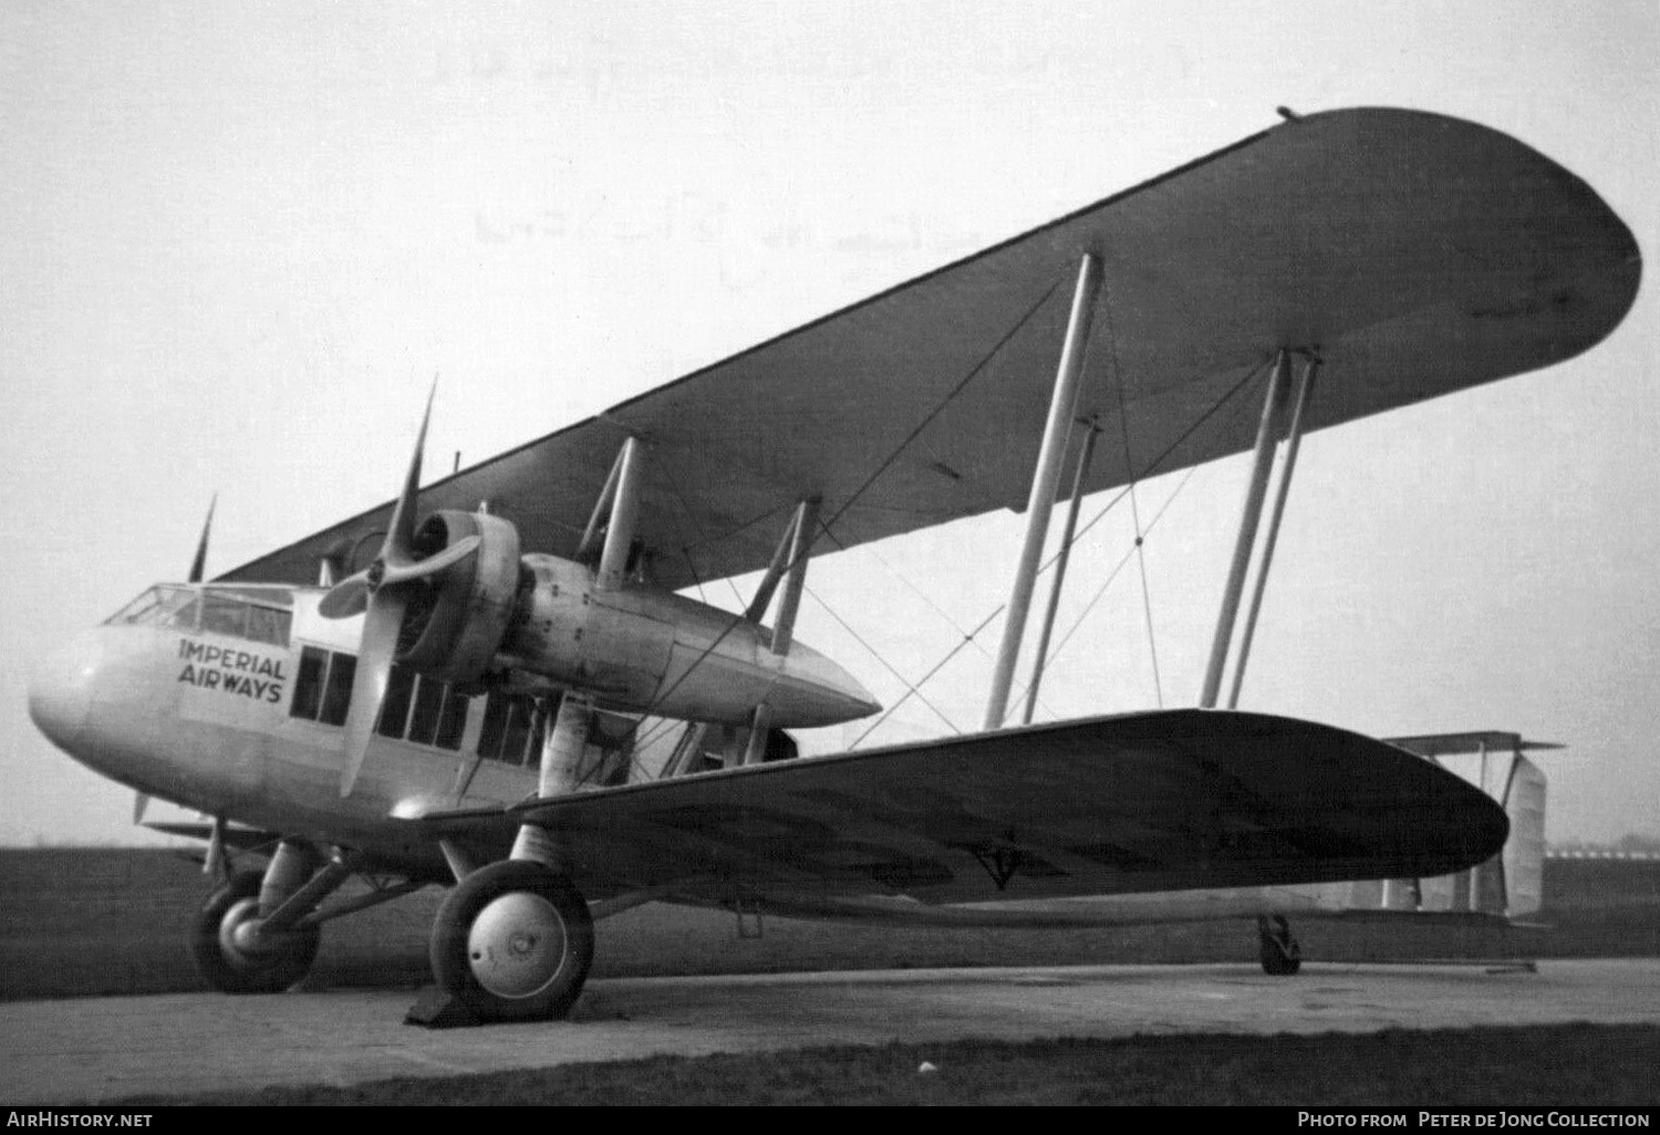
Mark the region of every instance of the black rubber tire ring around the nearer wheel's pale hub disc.
<instances>
[{"instance_id":1,"label":"black rubber tire ring around the nearer wheel's pale hub disc","mask_svg":"<svg viewBox=\"0 0 1660 1135\"><path fill-rule=\"evenodd\" d=\"M525 997L503 997L485 989L473 974L468 934L473 919L495 899L525 891L544 899L558 914L564 947L553 979ZM569 879L526 860L501 860L461 879L432 923L428 947L438 987L460 999L480 1021L558 1021L583 992L594 961L594 919Z\"/></svg>"}]
</instances>

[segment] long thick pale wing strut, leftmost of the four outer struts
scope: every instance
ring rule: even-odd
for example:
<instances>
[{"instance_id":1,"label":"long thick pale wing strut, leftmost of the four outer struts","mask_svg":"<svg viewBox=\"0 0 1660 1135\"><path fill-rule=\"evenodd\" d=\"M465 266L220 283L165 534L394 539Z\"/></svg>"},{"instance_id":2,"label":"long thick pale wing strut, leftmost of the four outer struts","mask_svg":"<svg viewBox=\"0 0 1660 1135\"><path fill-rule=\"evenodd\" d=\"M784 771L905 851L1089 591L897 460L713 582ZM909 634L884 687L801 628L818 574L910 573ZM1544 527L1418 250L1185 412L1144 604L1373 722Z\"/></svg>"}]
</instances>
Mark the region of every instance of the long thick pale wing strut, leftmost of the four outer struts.
<instances>
[{"instance_id":1,"label":"long thick pale wing strut, leftmost of the four outer struts","mask_svg":"<svg viewBox=\"0 0 1660 1135\"><path fill-rule=\"evenodd\" d=\"M1038 450L1038 466L1033 470L1033 491L1026 503L1026 543L1014 569L1014 586L1009 589L1009 612L1003 622L1003 644L998 647L998 665L991 675L991 699L986 702L986 728L1001 728L1009 705L1009 685L1014 682L1014 662L1026 634L1026 614L1031 611L1033 587L1038 582L1038 561L1049 534L1049 509L1054 490L1061 481L1061 461L1066 456L1067 433L1077 410L1079 380L1084 373L1084 350L1089 345L1089 324L1096 314L1096 294L1101 290L1101 259L1086 252L1077 264L1077 285L1072 290L1072 312L1066 320L1066 342L1061 345L1061 365L1054 375L1054 393L1049 398L1049 421L1044 426L1042 446Z\"/></svg>"}]
</instances>

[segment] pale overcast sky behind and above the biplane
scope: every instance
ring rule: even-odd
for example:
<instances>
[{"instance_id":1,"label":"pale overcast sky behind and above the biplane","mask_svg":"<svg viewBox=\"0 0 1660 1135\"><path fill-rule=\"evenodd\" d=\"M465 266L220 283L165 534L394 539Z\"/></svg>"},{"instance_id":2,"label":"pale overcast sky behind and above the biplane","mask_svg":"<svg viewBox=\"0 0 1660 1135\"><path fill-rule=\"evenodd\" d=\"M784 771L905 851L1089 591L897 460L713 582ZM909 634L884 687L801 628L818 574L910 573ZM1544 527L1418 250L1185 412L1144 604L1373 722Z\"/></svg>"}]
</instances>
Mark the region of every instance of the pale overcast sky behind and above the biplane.
<instances>
[{"instance_id":1,"label":"pale overcast sky behind and above the biplane","mask_svg":"<svg viewBox=\"0 0 1660 1135\"><path fill-rule=\"evenodd\" d=\"M211 574L390 496L435 372L433 476L1277 105L1502 129L1653 256L1657 76L1652 0L0 5L0 843L133 838L131 795L28 722L42 647L183 577L212 493ZM1564 742L1552 838L1660 833L1653 292L1570 363L1308 438L1243 707ZM1242 471L1140 488L1144 523L1175 494L1157 684L1134 564L1086 611L1129 516L1079 546L1046 715L1197 699ZM800 637L891 704L886 667L915 680L1003 601L1018 533L822 561L881 660L815 601ZM971 645L923 692L978 727L989 669ZM913 700L886 728L948 725Z\"/></svg>"}]
</instances>

